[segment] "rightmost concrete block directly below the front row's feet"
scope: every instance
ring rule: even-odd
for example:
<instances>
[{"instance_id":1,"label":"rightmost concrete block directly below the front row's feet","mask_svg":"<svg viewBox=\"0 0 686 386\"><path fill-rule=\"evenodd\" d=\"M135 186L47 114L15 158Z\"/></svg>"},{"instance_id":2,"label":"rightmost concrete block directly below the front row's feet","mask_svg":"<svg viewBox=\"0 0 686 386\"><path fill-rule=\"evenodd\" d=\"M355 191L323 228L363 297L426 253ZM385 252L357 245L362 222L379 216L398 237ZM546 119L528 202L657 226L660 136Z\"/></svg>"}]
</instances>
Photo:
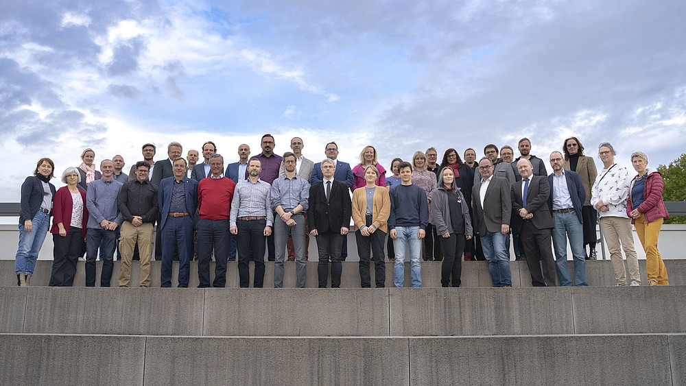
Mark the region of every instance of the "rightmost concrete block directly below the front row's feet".
<instances>
[{"instance_id":1,"label":"rightmost concrete block directly below the front row's feet","mask_svg":"<svg viewBox=\"0 0 686 386\"><path fill-rule=\"evenodd\" d=\"M578 334L686 333L686 287L571 289Z\"/></svg>"}]
</instances>

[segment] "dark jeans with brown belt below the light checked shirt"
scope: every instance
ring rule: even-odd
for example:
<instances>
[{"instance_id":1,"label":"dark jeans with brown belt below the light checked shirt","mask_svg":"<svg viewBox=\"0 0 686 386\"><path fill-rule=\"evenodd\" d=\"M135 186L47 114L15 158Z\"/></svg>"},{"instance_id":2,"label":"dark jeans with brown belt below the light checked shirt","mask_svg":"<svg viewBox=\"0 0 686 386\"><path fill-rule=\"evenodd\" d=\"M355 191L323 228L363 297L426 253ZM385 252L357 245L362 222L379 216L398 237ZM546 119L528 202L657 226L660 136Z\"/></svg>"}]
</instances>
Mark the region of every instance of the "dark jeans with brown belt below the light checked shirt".
<instances>
[{"instance_id":1,"label":"dark jeans with brown belt below the light checked shirt","mask_svg":"<svg viewBox=\"0 0 686 386\"><path fill-rule=\"evenodd\" d=\"M252 287L261 288L264 283L264 228L267 220L236 220L238 234L238 276L241 288L250 285L250 245L252 245L252 258L255 261L255 278L252 279Z\"/></svg>"}]
</instances>

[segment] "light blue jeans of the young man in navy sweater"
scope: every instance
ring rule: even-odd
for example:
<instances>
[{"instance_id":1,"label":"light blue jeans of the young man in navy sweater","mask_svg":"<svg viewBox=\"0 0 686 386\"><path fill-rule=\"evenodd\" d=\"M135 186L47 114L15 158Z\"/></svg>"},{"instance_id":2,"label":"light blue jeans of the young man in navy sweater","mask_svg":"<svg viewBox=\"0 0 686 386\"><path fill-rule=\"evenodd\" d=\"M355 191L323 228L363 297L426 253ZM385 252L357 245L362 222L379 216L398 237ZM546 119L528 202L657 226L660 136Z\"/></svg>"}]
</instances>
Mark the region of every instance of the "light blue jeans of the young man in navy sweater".
<instances>
[{"instance_id":1,"label":"light blue jeans of the young man in navy sweater","mask_svg":"<svg viewBox=\"0 0 686 386\"><path fill-rule=\"evenodd\" d=\"M393 284L396 287L403 287L405 282L405 248L410 246L410 283L412 287L422 286L421 260L422 240L418 238L418 226L397 226L395 231L398 238L393 240L395 250L395 263L393 265Z\"/></svg>"}]
</instances>

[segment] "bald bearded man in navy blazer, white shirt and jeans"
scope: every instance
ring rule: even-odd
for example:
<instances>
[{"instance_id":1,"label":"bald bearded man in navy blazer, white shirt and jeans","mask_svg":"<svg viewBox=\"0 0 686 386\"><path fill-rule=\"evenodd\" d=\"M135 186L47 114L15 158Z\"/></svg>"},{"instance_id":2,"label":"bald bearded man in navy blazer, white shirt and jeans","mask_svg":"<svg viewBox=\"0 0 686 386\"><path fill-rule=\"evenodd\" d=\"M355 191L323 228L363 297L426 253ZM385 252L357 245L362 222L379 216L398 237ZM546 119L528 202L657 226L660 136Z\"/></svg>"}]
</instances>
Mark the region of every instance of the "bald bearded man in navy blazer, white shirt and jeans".
<instances>
[{"instance_id":1,"label":"bald bearded man in navy blazer, white shirt and jeans","mask_svg":"<svg viewBox=\"0 0 686 386\"><path fill-rule=\"evenodd\" d=\"M548 209L553 216L553 247L558 267L560 286L571 286L567 265L567 237L574 258L574 284L587 286L586 259L584 256L584 223L582 206L586 201L586 189L578 173L564 170L565 158L561 152L550 154L550 166L554 173L548 176L550 197Z\"/></svg>"}]
</instances>

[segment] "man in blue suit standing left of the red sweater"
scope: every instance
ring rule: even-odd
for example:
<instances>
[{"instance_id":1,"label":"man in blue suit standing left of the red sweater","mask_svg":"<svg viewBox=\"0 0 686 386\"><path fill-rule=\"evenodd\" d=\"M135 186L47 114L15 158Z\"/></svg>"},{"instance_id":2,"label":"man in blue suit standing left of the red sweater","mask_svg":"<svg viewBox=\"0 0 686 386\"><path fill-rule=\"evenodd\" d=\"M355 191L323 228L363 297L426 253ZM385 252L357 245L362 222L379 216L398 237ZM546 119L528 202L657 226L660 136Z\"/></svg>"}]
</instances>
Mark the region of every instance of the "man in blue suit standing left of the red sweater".
<instances>
[{"instance_id":1,"label":"man in blue suit standing left of the red sweater","mask_svg":"<svg viewBox=\"0 0 686 386\"><path fill-rule=\"evenodd\" d=\"M160 182L158 203L161 206L158 233L162 236L162 284L171 287L171 261L178 251L178 287L187 288L193 245L193 213L198 207L198 181L185 173L186 160L174 160L174 176Z\"/></svg>"}]
</instances>

